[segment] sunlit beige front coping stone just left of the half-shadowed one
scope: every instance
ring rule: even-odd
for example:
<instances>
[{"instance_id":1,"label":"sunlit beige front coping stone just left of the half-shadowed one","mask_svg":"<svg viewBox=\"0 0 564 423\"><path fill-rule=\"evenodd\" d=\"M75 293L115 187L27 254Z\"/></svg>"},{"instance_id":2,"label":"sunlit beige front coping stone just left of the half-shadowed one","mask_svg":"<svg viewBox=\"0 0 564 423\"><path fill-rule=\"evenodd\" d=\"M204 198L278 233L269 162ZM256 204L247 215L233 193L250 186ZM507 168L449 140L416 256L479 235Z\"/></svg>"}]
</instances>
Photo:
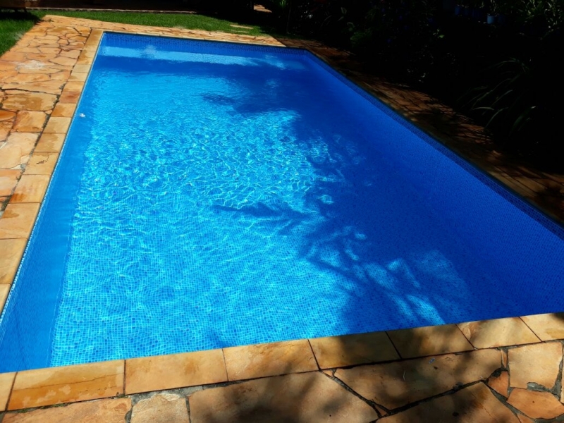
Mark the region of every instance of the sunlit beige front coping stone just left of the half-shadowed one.
<instances>
[{"instance_id":1,"label":"sunlit beige front coping stone just left of the half-shadowed one","mask_svg":"<svg viewBox=\"0 0 564 423\"><path fill-rule=\"evenodd\" d=\"M317 370L307 339L223 348L223 355L230 381Z\"/></svg>"}]
</instances>

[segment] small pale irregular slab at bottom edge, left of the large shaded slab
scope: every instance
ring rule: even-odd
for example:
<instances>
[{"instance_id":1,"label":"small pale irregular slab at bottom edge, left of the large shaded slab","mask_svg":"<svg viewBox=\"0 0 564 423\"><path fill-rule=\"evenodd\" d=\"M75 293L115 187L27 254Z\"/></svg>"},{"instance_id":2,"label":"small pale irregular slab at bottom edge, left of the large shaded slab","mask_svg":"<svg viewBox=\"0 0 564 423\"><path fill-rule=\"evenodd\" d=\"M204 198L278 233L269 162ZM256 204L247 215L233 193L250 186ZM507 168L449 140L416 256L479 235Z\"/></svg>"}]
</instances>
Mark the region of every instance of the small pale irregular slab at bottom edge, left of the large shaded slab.
<instances>
[{"instance_id":1,"label":"small pale irregular slab at bottom edge, left of the large shaded slab","mask_svg":"<svg viewBox=\"0 0 564 423\"><path fill-rule=\"evenodd\" d=\"M133 406L131 423L190 423L186 399L171 393L157 393Z\"/></svg>"}]
</instances>

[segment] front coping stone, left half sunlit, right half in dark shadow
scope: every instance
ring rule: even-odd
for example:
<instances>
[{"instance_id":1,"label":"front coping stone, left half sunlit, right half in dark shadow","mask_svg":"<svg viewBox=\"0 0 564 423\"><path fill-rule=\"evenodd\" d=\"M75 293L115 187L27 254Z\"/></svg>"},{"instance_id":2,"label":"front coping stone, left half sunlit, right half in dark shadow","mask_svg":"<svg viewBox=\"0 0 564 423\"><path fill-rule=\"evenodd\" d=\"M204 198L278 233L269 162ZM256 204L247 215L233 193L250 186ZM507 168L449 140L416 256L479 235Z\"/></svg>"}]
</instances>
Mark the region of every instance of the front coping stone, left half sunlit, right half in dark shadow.
<instances>
[{"instance_id":1,"label":"front coping stone, left half sunlit, right half in dark shadow","mask_svg":"<svg viewBox=\"0 0 564 423\"><path fill-rule=\"evenodd\" d=\"M310 339L309 343L312 345L321 369L399 360L400 358L386 332L314 338Z\"/></svg>"}]
</instances>

